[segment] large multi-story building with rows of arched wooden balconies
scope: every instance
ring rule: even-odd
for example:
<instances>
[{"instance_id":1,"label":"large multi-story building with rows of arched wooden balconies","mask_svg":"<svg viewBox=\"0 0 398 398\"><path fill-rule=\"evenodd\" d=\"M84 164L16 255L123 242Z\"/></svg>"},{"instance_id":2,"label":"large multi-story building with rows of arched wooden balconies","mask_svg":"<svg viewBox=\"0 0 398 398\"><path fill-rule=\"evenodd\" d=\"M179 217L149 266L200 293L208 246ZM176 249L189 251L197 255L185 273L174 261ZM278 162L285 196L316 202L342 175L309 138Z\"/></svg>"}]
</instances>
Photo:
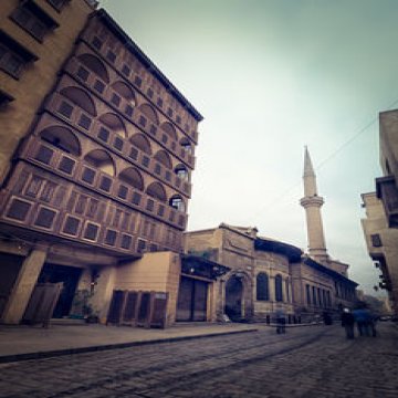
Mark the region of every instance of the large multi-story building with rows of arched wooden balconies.
<instances>
[{"instance_id":1,"label":"large multi-story building with rows of arched wooden balconies","mask_svg":"<svg viewBox=\"0 0 398 398\"><path fill-rule=\"evenodd\" d=\"M62 18L83 7L40 3L40 12L64 3ZM12 161L0 190L0 279L8 281L0 284L0 316L20 322L36 283L52 282L63 284L56 317L75 311L78 292L88 290L105 318L114 290L142 290L169 293L172 322L180 275L175 253L182 250L202 116L104 10L88 19L75 11L64 29L81 24L67 32L45 87L32 77L38 106L6 150ZM53 48L49 42L45 50L51 60ZM27 90L22 83L15 81L19 93ZM6 119L12 109L2 112Z\"/></svg>"}]
</instances>

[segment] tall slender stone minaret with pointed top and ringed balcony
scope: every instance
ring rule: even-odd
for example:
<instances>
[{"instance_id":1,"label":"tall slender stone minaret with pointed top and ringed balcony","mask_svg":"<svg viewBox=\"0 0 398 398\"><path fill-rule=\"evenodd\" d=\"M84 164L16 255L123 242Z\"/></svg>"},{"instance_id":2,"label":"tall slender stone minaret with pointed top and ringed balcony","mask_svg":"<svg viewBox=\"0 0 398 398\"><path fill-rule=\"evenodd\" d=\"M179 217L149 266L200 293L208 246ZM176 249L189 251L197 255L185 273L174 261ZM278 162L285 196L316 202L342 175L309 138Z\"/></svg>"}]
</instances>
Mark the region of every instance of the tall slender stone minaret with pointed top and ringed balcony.
<instances>
[{"instance_id":1,"label":"tall slender stone minaret with pointed top and ringed balcony","mask_svg":"<svg viewBox=\"0 0 398 398\"><path fill-rule=\"evenodd\" d=\"M304 198L300 205L305 209L308 253L312 259L326 264L328 260L325 237L323 232L323 223L321 216L321 207L324 199L317 195L316 177L311 161L307 147L304 153Z\"/></svg>"}]
</instances>

